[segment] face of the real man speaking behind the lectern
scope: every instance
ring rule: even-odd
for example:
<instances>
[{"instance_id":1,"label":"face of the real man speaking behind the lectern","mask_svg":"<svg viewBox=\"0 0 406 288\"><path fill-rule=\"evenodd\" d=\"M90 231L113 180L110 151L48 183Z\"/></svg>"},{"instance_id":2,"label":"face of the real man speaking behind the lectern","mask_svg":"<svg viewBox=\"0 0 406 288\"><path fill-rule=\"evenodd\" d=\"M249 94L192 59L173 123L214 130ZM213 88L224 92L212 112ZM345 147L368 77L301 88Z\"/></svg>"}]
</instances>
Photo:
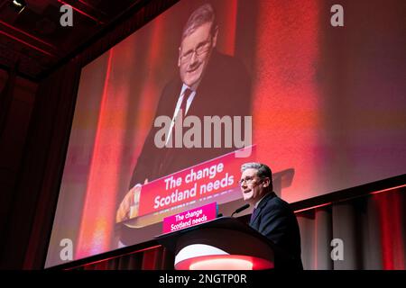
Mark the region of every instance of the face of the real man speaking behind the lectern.
<instances>
[{"instance_id":1,"label":"face of the real man speaking behind the lectern","mask_svg":"<svg viewBox=\"0 0 406 288\"><path fill-rule=\"evenodd\" d=\"M257 175L258 170L254 168L246 169L241 175L241 192L247 202L257 202L265 193L263 181Z\"/></svg>"}]
</instances>

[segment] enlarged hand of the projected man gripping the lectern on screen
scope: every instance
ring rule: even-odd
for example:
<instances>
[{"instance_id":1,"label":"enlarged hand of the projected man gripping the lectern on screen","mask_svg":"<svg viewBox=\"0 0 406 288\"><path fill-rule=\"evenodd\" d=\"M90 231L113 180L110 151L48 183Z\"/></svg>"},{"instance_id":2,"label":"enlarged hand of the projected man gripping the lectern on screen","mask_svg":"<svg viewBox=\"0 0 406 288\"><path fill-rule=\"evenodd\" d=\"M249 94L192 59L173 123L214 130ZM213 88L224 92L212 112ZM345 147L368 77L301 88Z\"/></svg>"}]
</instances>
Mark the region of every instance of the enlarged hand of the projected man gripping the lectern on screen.
<instances>
[{"instance_id":1,"label":"enlarged hand of the projected man gripping the lectern on screen","mask_svg":"<svg viewBox=\"0 0 406 288\"><path fill-rule=\"evenodd\" d=\"M145 183L148 183L148 179L145 179ZM143 188L142 184L136 184L133 188L125 194L125 198L118 207L117 213L115 214L115 222L121 222L130 217L136 217L138 215L140 193ZM131 215L130 215L131 211Z\"/></svg>"}]
</instances>

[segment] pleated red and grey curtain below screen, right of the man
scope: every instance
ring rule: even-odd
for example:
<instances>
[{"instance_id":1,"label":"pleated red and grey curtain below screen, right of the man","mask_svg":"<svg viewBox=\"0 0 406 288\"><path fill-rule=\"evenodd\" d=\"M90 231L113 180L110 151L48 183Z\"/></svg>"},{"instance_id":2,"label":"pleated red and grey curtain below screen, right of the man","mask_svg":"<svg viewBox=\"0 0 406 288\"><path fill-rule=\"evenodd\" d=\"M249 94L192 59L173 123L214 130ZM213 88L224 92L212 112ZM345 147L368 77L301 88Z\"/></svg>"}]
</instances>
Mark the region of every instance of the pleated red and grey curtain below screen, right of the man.
<instances>
[{"instance_id":1,"label":"pleated red and grey curtain below screen, right of the man","mask_svg":"<svg viewBox=\"0 0 406 288\"><path fill-rule=\"evenodd\" d=\"M315 270L403 270L405 203L403 185L298 212L303 266ZM334 238L343 241L343 260L330 257Z\"/></svg>"}]
</instances>

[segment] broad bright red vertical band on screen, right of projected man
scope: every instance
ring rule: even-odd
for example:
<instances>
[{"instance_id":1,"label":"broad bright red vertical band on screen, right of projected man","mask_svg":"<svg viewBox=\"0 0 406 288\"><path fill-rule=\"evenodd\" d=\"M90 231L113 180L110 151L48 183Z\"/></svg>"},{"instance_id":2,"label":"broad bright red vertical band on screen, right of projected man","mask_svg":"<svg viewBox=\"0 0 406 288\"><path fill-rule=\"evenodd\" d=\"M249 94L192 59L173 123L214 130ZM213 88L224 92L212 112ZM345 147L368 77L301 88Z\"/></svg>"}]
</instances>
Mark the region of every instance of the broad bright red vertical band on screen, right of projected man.
<instances>
[{"instance_id":1,"label":"broad bright red vertical band on screen, right of projected man","mask_svg":"<svg viewBox=\"0 0 406 288\"><path fill-rule=\"evenodd\" d=\"M317 178L320 95L314 63L319 7L314 1L258 5L253 126L261 129L254 129L254 143L258 161L272 166L273 172L294 168L294 181L281 195L291 202L306 198L302 193L312 186L309 179Z\"/></svg>"}]
</instances>

